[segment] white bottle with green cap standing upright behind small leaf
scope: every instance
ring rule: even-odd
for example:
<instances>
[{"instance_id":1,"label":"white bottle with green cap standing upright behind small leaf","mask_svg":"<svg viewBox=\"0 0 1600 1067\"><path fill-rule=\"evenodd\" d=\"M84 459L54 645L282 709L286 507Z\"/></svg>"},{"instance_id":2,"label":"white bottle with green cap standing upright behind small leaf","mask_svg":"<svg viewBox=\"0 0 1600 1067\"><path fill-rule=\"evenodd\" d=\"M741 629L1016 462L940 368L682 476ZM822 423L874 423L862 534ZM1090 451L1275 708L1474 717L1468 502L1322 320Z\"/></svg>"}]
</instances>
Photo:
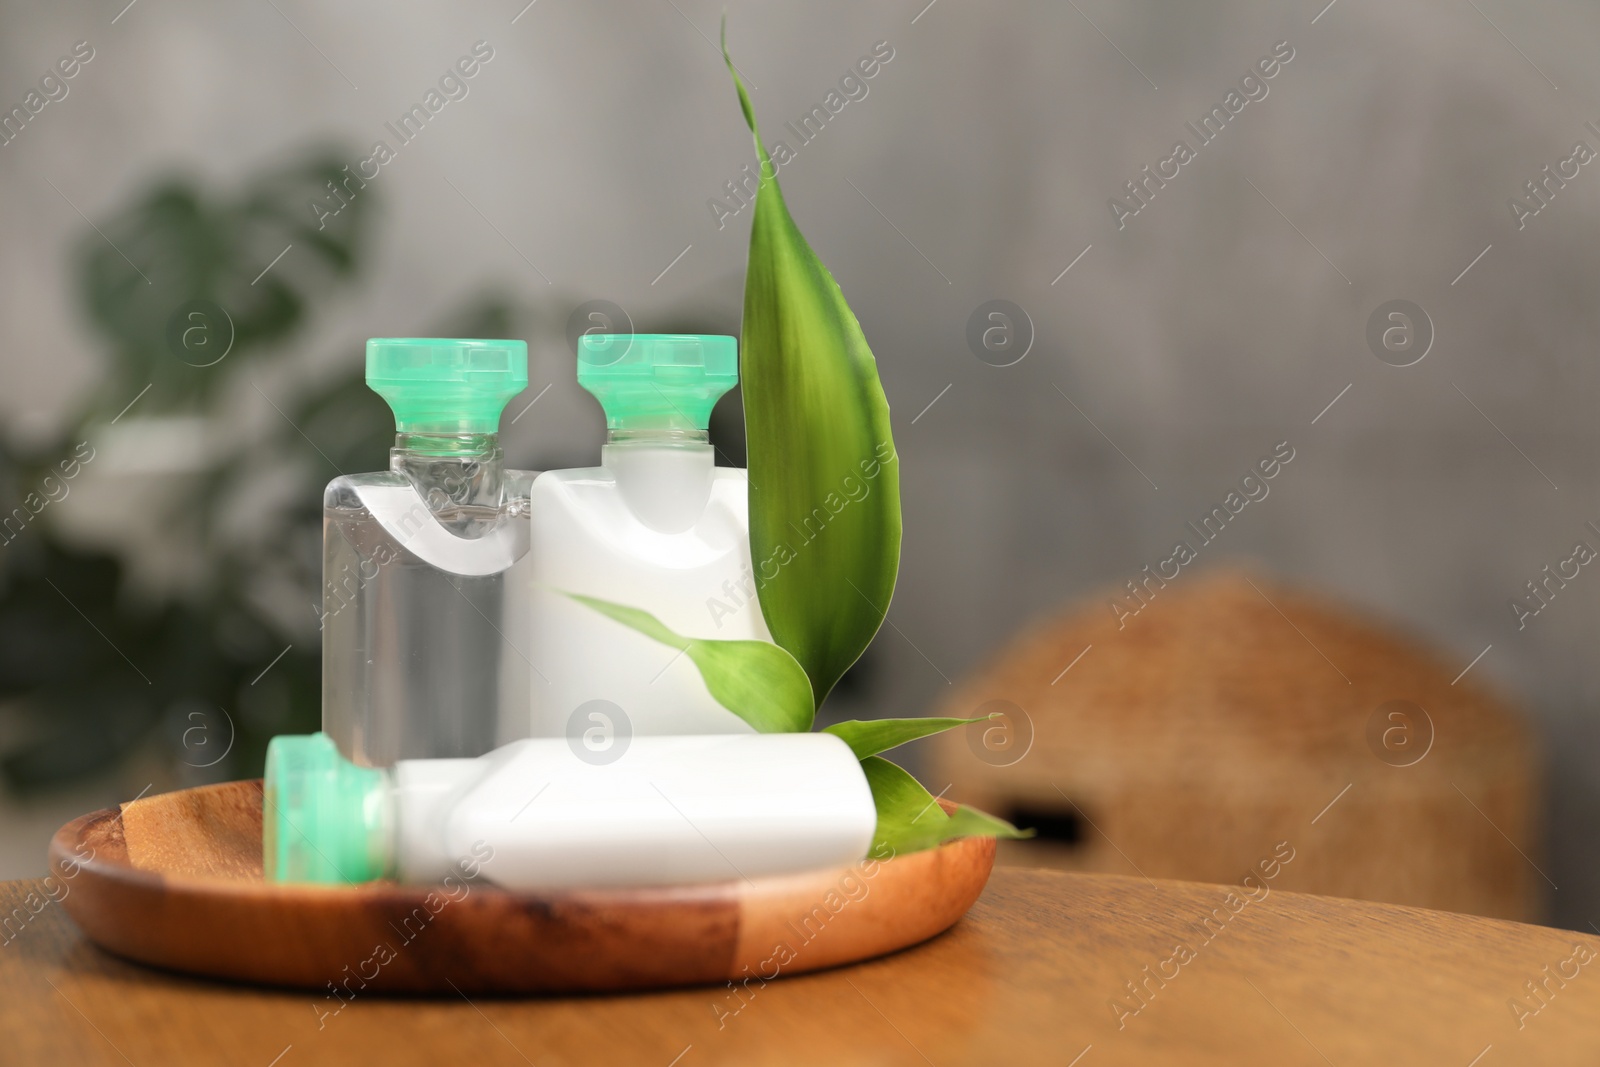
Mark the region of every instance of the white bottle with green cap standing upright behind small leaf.
<instances>
[{"instance_id":1,"label":"white bottle with green cap standing upright behind small leaf","mask_svg":"<svg viewBox=\"0 0 1600 1067\"><path fill-rule=\"evenodd\" d=\"M733 338L586 334L578 381L606 414L600 466L547 470L530 491L533 736L749 733L699 670L578 603L640 608L683 637L771 640L750 568L747 475L707 435L739 381Z\"/></svg>"}]
</instances>

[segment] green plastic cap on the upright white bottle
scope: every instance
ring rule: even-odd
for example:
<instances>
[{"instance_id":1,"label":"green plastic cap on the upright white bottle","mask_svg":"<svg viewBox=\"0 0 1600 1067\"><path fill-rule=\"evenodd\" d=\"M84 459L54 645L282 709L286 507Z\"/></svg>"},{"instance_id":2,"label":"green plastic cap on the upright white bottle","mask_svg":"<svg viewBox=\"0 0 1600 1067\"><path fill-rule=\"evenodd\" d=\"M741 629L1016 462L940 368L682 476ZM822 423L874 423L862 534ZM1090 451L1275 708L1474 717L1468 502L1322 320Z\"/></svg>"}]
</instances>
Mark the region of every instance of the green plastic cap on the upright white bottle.
<instances>
[{"instance_id":1,"label":"green plastic cap on the upright white bottle","mask_svg":"<svg viewBox=\"0 0 1600 1067\"><path fill-rule=\"evenodd\" d=\"M739 342L715 334L586 333L578 384L600 400L611 430L704 430L739 384Z\"/></svg>"}]
</instances>

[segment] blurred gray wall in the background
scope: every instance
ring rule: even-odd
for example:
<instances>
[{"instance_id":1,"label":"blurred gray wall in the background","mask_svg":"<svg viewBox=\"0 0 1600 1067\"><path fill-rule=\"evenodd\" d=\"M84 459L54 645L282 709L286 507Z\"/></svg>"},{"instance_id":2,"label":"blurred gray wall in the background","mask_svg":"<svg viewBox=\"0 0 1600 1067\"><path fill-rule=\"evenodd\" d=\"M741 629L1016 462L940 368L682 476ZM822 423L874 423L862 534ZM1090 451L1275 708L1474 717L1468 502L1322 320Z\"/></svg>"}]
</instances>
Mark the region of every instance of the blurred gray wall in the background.
<instances>
[{"instance_id":1,"label":"blurred gray wall in the background","mask_svg":"<svg viewBox=\"0 0 1600 1067\"><path fill-rule=\"evenodd\" d=\"M298 373L499 283L555 320L531 371L555 384L509 453L576 462L600 427L571 382L566 310L606 298L640 328L685 309L736 328L749 211L718 230L706 202L750 141L710 43L718 3L123 2L0 16L6 107L72 42L96 50L67 99L0 149L13 432L54 424L101 373L67 285L78 210L94 219L173 170L227 187L309 142L366 146L480 38L494 59L470 96L376 179L378 266L314 323ZM928 709L1029 617L1165 557L1290 440L1272 496L1208 553L1386 613L1462 667L1493 645L1474 673L1538 721L1554 915L1584 925L1600 912L1600 576L1586 568L1525 630L1507 601L1600 522L1600 163L1522 230L1506 202L1574 141L1600 149L1584 128L1600 125L1600 10L923 3L728 10L768 141L875 42L894 48L782 171L878 355L904 458L904 637L880 635L874 705ZM1294 59L1269 96L1118 232L1107 198L1280 40ZM965 339L994 298L1035 330L1014 366ZM1395 298L1437 331L1410 368L1363 339ZM238 408L270 416L248 390ZM138 776L96 789L131 795ZM42 872L43 837L85 798L11 803L0 875Z\"/></svg>"}]
</instances>

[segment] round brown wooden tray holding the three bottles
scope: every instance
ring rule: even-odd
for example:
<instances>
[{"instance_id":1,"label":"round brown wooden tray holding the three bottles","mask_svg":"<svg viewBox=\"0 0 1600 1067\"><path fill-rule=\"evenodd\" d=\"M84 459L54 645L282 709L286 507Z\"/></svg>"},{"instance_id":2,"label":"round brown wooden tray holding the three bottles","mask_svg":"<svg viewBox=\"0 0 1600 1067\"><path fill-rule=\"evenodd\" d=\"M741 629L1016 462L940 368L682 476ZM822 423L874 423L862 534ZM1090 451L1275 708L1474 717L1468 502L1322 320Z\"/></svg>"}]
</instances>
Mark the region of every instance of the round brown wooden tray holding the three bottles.
<instances>
[{"instance_id":1,"label":"round brown wooden tray holding the three bottles","mask_svg":"<svg viewBox=\"0 0 1600 1067\"><path fill-rule=\"evenodd\" d=\"M994 838L878 864L659 889L510 893L261 878L261 781L146 797L56 830L67 913L117 955L355 992L562 993L766 981L926 941L973 905Z\"/></svg>"}]
</instances>

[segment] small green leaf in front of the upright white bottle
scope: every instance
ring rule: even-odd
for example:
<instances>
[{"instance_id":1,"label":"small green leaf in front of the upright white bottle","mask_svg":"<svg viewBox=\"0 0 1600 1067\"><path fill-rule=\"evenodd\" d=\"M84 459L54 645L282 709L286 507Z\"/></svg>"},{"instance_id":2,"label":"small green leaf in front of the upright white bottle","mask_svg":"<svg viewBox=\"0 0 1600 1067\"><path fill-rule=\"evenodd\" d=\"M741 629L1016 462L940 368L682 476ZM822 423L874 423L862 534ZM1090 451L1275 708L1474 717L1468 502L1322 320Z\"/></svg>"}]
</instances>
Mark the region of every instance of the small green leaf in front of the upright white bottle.
<instances>
[{"instance_id":1,"label":"small green leaf in front of the upright white bottle","mask_svg":"<svg viewBox=\"0 0 1600 1067\"><path fill-rule=\"evenodd\" d=\"M795 657L770 641L712 641L683 637L656 616L610 600L566 593L578 603L638 630L670 648L683 649L699 667L712 697L763 734L811 729L811 683Z\"/></svg>"}]
</instances>

